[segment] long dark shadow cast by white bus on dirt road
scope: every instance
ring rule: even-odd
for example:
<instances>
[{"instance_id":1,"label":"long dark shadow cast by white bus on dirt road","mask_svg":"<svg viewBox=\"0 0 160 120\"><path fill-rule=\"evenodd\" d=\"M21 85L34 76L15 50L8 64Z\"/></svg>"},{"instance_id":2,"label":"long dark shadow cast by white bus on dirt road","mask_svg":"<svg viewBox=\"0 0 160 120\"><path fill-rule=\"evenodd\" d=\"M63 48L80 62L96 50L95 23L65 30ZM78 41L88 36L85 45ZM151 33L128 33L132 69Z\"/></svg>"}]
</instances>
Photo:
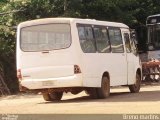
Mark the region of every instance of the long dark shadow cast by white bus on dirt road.
<instances>
[{"instance_id":1,"label":"long dark shadow cast by white bus on dirt road","mask_svg":"<svg viewBox=\"0 0 160 120\"><path fill-rule=\"evenodd\" d=\"M153 102L160 101L160 91L141 91L139 93L115 92L106 99L91 99L89 96L82 96L73 99L66 99L54 102L43 102L39 104L51 103L82 103L82 102Z\"/></svg>"}]
</instances>

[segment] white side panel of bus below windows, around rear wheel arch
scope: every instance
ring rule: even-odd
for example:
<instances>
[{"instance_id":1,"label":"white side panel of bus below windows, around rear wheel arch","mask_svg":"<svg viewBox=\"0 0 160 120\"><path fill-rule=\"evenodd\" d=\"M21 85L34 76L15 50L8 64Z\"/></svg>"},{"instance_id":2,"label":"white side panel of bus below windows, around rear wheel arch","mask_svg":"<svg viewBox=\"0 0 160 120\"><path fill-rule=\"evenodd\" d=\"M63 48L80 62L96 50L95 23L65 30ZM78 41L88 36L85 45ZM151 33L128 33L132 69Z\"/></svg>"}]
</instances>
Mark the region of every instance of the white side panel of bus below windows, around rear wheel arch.
<instances>
[{"instance_id":1,"label":"white side panel of bus below windows, around rear wheel arch","mask_svg":"<svg viewBox=\"0 0 160 120\"><path fill-rule=\"evenodd\" d=\"M84 86L100 87L104 72L110 73L111 86L127 84L127 64L124 53L84 54L82 58L82 63L85 65L83 69ZM110 64L111 62L113 64Z\"/></svg>"}]
</instances>

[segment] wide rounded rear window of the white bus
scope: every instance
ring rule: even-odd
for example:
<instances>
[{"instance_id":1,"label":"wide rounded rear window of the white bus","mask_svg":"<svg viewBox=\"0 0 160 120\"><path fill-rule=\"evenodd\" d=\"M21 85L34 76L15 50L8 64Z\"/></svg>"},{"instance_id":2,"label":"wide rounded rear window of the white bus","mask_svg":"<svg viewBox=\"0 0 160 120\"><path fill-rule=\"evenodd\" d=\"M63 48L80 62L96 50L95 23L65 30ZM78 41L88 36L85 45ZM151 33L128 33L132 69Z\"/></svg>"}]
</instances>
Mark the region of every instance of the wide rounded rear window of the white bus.
<instances>
[{"instance_id":1,"label":"wide rounded rear window of the white bus","mask_svg":"<svg viewBox=\"0 0 160 120\"><path fill-rule=\"evenodd\" d=\"M68 48L71 44L69 24L45 24L21 29L23 51L44 51Z\"/></svg>"}]
</instances>

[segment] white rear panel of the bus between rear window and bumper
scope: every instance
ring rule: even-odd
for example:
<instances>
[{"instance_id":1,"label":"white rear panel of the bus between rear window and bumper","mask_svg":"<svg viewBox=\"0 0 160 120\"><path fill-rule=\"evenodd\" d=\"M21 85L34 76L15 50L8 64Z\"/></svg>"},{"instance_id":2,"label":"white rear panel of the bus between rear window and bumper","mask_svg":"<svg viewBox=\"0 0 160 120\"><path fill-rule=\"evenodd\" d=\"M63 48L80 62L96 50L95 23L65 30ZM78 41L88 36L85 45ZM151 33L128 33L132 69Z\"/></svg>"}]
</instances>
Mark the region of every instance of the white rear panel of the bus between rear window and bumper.
<instances>
[{"instance_id":1,"label":"white rear panel of the bus between rear window and bumper","mask_svg":"<svg viewBox=\"0 0 160 120\"><path fill-rule=\"evenodd\" d=\"M74 75L73 59L70 57L68 50L24 53L24 56L20 58L23 61L21 64L23 78L27 76L40 79Z\"/></svg>"}]
</instances>

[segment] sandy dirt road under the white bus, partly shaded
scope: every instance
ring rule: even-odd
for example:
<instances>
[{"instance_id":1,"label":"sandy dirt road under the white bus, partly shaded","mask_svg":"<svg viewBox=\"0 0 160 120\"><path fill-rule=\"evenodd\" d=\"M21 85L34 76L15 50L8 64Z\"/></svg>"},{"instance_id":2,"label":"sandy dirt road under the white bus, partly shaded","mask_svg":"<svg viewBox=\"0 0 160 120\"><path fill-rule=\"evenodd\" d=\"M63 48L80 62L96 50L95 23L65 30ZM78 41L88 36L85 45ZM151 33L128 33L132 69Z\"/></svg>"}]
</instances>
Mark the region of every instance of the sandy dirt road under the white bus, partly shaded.
<instances>
[{"instance_id":1,"label":"sandy dirt road under the white bus, partly shaded","mask_svg":"<svg viewBox=\"0 0 160 120\"><path fill-rule=\"evenodd\" d=\"M160 86L143 86L140 93L128 87L111 89L107 99L90 99L84 92L65 94L60 102L45 102L41 95L0 98L0 114L160 114Z\"/></svg>"}]
</instances>

